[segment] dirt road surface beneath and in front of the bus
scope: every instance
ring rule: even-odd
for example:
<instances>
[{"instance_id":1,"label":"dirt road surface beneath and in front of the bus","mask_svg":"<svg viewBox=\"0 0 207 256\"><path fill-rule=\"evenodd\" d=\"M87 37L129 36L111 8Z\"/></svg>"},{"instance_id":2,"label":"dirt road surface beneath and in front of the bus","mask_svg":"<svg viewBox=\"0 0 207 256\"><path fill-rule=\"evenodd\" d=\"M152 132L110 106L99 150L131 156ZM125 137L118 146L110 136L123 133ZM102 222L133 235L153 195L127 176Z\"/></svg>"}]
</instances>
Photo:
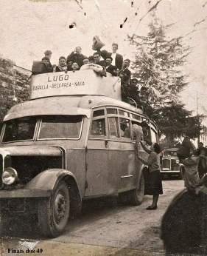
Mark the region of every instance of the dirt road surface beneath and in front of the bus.
<instances>
[{"instance_id":1,"label":"dirt road surface beneath and in front of the bus","mask_svg":"<svg viewBox=\"0 0 207 256\"><path fill-rule=\"evenodd\" d=\"M141 206L121 206L116 198L91 200L84 204L83 215L70 220L66 232L55 239L39 238L25 220L9 237L1 238L0 255L164 255L159 238L161 218L172 198L183 189L183 181L166 180L163 185L157 210L146 210L150 196L145 196ZM23 253L18 253L20 249Z\"/></svg>"}]
</instances>

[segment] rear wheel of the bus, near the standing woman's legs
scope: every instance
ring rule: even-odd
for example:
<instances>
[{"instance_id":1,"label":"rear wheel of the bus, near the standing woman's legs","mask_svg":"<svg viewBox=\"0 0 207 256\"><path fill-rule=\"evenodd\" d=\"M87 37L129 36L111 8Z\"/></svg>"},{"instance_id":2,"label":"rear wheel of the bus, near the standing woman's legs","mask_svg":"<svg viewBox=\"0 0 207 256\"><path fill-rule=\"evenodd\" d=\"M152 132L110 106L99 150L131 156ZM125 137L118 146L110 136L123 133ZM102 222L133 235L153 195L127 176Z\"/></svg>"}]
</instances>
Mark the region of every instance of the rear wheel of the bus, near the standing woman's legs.
<instances>
[{"instance_id":1,"label":"rear wheel of the bus, near the standing woman's legs","mask_svg":"<svg viewBox=\"0 0 207 256\"><path fill-rule=\"evenodd\" d=\"M141 178L138 182L136 189L123 192L119 194L119 202L138 206L141 204L144 198L144 175L141 174Z\"/></svg>"}]
</instances>

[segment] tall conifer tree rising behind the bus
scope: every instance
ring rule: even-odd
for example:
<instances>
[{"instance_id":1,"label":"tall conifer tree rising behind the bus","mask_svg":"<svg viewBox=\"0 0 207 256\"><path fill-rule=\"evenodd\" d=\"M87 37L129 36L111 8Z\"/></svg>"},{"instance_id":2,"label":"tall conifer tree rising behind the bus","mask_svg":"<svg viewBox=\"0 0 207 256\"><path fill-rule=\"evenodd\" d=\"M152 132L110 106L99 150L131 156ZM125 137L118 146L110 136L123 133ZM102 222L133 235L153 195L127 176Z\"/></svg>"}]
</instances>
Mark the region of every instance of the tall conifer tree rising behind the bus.
<instances>
[{"instance_id":1,"label":"tall conifer tree rising behind the bus","mask_svg":"<svg viewBox=\"0 0 207 256\"><path fill-rule=\"evenodd\" d=\"M147 36L129 36L130 44L136 45L133 76L141 87L147 87L149 95L151 111L147 115L155 120L170 144L180 136L195 138L200 133L200 118L192 117L180 102L180 92L188 84L182 66L191 53L182 39L167 40L165 27L157 18L150 23Z\"/></svg>"}]
</instances>

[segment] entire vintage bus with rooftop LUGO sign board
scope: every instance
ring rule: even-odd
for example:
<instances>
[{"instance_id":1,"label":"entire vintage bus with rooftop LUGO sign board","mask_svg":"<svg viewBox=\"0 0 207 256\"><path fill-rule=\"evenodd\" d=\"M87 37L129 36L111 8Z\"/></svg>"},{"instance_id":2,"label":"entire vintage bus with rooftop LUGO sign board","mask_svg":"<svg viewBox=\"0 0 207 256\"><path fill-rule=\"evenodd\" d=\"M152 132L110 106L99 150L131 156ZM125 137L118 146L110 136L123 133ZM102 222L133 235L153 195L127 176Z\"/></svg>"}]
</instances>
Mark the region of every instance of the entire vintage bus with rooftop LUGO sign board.
<instances>
[{"instance_id":1,"label":"entire vintage bus with rooftop LUGO sign board","mask_svg":"<svg viewBox=\"0 0 207 256\"><path fill-rule=\"evenodd\" d=\"M4 117L0 146L1 232L10 218L36 216L47 237L60 235L87 198L144 197L144 165L132 125L155 124L121 101L120 80L93 70L33 75L30 99ZM144 150L139 150L147 157Z\"/></svg>"}]
</instances>

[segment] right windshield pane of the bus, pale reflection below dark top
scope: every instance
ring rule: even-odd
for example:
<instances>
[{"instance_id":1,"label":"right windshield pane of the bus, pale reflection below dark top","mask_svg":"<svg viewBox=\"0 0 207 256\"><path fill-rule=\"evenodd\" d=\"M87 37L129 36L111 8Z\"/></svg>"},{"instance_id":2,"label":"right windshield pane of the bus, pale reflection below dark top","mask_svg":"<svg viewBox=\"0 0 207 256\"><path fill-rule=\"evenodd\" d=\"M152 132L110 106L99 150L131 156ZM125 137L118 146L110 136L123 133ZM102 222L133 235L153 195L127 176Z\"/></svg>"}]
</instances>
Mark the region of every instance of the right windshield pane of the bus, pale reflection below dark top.
<instances>
[{"instance_id":1,"label":"right windshield pane of the bus, pale reflection below dark top","mask_svg":"<svg viewBox=\"0 0 207 256\"><path fill-rule=\"evenodd\" d=\"M83 115L46 115L38 139L80 138Z\"/></svg>"}]
</instances>

